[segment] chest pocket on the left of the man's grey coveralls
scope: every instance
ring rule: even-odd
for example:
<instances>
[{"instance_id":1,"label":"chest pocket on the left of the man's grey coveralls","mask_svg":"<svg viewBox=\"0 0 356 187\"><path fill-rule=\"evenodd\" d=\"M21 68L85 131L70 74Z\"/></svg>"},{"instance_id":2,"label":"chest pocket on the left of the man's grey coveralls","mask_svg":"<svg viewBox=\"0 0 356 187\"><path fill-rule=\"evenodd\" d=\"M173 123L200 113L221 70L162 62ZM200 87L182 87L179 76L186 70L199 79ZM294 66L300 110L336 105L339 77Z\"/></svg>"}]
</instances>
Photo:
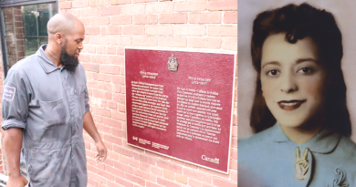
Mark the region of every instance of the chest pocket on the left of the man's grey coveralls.
<instances>
[{"instance_id":1,"label":"chest pocket on the left of the man's grey coveralls","mask_svg":"<svg viewBox=\"0 0 356 187\"><path fill-rule=\"evenodd\" d=\"M46 128L65 125L67 121L67 109L63 99L54 101L38 100L40 118L45 121Z\"/></svg>"}]
</instances>

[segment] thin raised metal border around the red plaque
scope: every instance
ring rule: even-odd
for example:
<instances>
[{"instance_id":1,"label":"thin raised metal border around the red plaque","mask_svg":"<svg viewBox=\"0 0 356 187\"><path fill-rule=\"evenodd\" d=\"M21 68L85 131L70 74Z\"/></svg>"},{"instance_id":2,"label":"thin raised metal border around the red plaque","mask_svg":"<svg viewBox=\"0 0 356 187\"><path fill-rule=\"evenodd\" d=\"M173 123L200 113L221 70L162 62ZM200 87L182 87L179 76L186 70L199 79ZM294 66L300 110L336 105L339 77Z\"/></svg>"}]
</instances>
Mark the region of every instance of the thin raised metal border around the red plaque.
<instances>
[{"instance_id":1,"label":"thin raised metal border around the red plaque","mask_svg":"<svg viewBox=\"0 0 356 187\"><path fill-rule=\"evenodd\" d=\"M133 145L131 143L129 143L129 136L128 136L128 130L126 130L126 143L132 147L135 147L135 148L139 148L141 150L144 150L144 151L150 151L150 152L153 152L153 153L156 153L156 154L159 154L161 156L164 156L164 157L168 157L168 158L171 158L171 159L174 159L174 160L177 160L177 161L183 161L183 162L186 162L186 163L190 163L192 165L195 165L195 166L199 166L199 167L202 167L202 168L205 168L205 169L208 169L208 170L212 170L212 171L217 171L217 172L220 172L220 173L224 173L224 174L229 174L229 171L230 171L230 160L231 160L231 141L232 141L232 133L233 133L233 122L234 122L234 91L235 91L235 88L237 88L237 81L236 81L236 73L237 73L237 52L233 52L233 51L225 51L225 50L215 50L215 49L212 49L212 50L209 50L209 49L202 49L202 50L184 50L182 48L159 48L159 47L124 47L124 57L125 57L125 113L126 113L126 122L127 122L127 104L126 104L126 96L127 96L127 92L126 92L126 49L138 49L138 50L155 50L155 51L180 51L180 52L194 52L194 53L215 53L215 54L225 54L225 55L234 55L234 81L233 81L233 93L232 93L232 105L231 105L231 117L230 117L230 136L229 136L229 151L228 151L228 156L227 156L227 171L219 171L219 170L216 170L214 168L211 168L211 167L208 167L208 166L204 166L202 164L199 164L199 163L194 163L192 161L184 161L182 159L179 159L177 157L173 157L173 156L170 156L170 155L167 155L167 154L162 154L161 152L158 152L158 151L152 151L152 150L148 150L148 149L145 149L145 148L142 148L140 146L137 146L137 145ZM127 125L127 123L126 123Z\"/></svg>"}]
</instances>

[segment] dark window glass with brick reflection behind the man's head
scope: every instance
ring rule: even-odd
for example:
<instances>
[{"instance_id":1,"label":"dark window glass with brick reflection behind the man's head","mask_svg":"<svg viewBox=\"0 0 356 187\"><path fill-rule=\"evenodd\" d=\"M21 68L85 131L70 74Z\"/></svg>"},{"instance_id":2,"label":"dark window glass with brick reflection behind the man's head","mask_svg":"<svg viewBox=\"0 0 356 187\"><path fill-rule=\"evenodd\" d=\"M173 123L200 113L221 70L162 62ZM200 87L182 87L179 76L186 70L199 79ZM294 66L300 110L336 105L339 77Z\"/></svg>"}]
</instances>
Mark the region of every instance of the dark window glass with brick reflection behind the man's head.
<instances>
[{"instance_id":1,"label":"dark window glass with brick reflection behind the man's head","mask_svg":"<svg viewBox=\"0 0 356 187\"><path fill-rule=\"evenodd\" d=\"M57 3L6 7L4 10L7 65L36 53L47 44L47 22L58 13Z\"/></svg>"}]
</instances>

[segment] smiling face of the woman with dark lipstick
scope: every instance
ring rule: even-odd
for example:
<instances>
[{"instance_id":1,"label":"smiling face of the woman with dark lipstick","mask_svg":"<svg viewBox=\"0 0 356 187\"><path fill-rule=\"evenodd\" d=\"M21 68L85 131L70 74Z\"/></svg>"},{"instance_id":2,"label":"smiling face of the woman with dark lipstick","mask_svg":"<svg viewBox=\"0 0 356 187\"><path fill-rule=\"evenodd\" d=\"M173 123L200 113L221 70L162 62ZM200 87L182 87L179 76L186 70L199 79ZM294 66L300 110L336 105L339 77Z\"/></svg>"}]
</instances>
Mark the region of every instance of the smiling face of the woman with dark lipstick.
<instances>
[{"instance_id":1,"label":"smiling face of the woman with dark lipstick","mask_svg":"<svg viewBox=\"0 0 356 187\"><path fill-rule=\"evenodd\" d=\"M323 111L326 69L311 37L290 44L285 36L268 36L263 44L261 84L267 107L279 124L298 128Z\"/></svg>"}]
</instances>

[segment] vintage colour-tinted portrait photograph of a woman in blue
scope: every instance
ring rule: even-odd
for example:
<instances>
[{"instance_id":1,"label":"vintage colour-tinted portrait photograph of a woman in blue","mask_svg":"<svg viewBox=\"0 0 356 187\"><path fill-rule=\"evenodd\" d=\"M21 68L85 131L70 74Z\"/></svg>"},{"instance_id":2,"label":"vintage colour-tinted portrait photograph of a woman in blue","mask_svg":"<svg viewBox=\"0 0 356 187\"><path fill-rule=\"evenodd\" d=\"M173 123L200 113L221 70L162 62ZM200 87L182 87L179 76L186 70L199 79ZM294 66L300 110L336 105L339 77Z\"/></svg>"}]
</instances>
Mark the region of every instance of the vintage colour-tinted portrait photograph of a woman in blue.
<instances>
[{"instance_id":1,"label":"vintage colour-tinted portrait photograph of a woman in blue","mask_svg":"<svg viewBox=\"0 0 356 187\"><path fill-rule=\"evenodd\" d=\"M356 1L238 7L238 186L356 186Z\"/></svg>"}]
</instances>

